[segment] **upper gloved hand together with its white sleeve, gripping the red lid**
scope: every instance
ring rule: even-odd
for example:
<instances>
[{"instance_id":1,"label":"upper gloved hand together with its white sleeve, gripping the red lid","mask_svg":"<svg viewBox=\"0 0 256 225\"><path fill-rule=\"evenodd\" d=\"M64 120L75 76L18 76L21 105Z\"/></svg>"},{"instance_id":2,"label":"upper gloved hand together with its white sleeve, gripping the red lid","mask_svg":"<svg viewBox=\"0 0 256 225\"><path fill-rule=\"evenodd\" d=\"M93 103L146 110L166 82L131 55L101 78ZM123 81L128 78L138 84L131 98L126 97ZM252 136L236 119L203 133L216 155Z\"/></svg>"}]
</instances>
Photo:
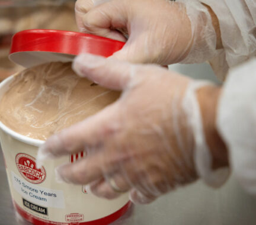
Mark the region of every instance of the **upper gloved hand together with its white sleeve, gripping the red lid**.
<instances>
[{"instance_id":1,"label":"upper gloved hand together with its white sleeve, gripping the red lid","mask_svg":"<svg viewBox=\"0 0 256 225\"><path fill-rule=\"evenodd\" d=\"M255 1L78 0L82 32L126 41L121 60L168 65L209 61L219 79L256 54ZM121 32L119 32L119 31Z\"/></svg>"}]
</instances>

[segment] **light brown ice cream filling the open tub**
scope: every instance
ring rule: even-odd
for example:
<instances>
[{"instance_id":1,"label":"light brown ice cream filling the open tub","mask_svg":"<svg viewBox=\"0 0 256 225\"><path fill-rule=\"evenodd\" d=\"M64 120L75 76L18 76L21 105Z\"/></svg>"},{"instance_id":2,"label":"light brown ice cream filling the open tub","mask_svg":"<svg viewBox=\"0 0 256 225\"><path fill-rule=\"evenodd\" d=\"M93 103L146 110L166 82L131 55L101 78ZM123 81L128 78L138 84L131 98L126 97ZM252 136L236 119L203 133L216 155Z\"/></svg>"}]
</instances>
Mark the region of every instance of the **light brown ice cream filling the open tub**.
<instances>
[{"instance_id":1,"label":"light brown ice cream filling the open tub","mask_svg":"<svg viewBox=\"0 0 256 225\"><path fill-rule=\"evenodd\" d=\"M14 77L0 104L0 121L17 133L46 140L119 98L73 72L71 63L47 63Z\"/></svg>"}]
</instances>

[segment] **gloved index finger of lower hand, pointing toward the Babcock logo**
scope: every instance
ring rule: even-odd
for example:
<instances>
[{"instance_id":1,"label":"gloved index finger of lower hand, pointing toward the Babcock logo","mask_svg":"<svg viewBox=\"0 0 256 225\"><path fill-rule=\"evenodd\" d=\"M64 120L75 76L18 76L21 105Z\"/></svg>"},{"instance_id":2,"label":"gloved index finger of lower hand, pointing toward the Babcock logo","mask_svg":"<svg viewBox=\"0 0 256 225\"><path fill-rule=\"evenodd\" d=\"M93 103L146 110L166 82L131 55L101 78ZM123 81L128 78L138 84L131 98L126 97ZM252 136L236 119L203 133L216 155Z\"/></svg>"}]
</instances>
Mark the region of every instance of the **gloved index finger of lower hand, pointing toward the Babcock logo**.
<instances>
[{"instance_id":1,"label":"gloved index finger of lower hand, pointing toward the Babcock logo","mask_svg":"<svg viewBox=\"0 0 256 225\"><path fill-rule=\"evenodd\" d=\"M39 147L37 162L100 147L106 136L119 130L116 107L116 104L110 105L92 117L49 137Z\"/></svg>"}]
</instances>

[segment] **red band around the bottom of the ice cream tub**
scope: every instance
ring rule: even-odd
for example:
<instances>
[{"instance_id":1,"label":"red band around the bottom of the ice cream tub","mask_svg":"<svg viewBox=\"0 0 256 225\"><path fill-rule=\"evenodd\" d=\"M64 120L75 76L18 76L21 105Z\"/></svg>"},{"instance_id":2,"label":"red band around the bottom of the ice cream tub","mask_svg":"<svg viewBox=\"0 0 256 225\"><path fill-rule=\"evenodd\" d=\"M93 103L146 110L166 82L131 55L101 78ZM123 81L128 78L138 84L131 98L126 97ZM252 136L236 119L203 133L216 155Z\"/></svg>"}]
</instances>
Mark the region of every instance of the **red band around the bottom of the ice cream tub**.
<instances>
[{"instance_id":1,"label":"red band around the bottom of the ice cream tub","mask_svg":"<svg viewBox=\"0 0 256 225\"><path fill-rule=\"evenodd\" d=\"M30 223L33 223L35 225L61 225L61 224L69 224L67 223L57 223L54 221L49 220L43 220L42 218L33 216L29 213L27 213L23 208L21 208L15 201L13 201L14 207L17 210L18 214L20 214L21 217L23 217L25 220L29 221ZM123 216L123 214L126 213L126 211L129 209L129 207L132 205L132 203L129 201L126 205L124 205L120 210L116 211L113 214L110 214L109 216L100 218L98 220L88 221L84 223L79 223L79 225L107 225L112 223L113 221L117 220L119 217Z\"/></svg>"}]
</instances>

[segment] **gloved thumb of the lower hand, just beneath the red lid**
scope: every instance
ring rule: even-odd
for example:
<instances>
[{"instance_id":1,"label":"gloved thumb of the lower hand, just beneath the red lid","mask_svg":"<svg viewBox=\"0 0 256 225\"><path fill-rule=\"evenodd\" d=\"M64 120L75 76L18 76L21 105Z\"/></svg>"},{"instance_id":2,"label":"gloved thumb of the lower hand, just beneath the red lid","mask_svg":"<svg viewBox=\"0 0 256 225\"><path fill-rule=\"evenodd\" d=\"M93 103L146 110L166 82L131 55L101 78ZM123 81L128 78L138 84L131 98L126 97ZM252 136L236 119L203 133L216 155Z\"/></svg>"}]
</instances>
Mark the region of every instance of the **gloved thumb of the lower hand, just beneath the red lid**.
<instances>
[{"instance_id":1,"label":"gloved thumb of the lower hand, just beneath the red lid","mask_svg":"<svg viewBox=\"0 0 256 225\"><path fill-rule=\"evenodd\" d=\"M93 54L81 54L73 62L73 70L81 77L114 90L126 89L132 80L136 65Z\"/></svg>"}]
</instances>

